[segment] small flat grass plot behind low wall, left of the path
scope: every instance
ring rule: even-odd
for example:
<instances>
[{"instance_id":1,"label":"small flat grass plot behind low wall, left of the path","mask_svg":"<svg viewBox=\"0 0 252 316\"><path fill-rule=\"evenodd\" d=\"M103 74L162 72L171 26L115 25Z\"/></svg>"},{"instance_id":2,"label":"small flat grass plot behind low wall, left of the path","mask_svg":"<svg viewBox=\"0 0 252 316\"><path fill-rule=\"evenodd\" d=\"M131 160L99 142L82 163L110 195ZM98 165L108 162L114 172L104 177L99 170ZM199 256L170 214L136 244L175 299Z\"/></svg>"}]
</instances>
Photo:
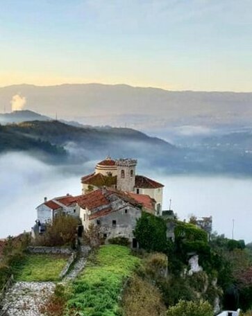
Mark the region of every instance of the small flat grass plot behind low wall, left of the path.
<instances>
[{"instance_id":1,"label":"small flat grass plot behind low wall, left of the path","mask_svg":"<svg viewBox=\"0 0 252 316\"><path fill-rule=\"evenodd\" d=\"M59 274L67 263L66 256L29 254L16 267L17 281L59 281Z\"/></svg>"}]
</instances>

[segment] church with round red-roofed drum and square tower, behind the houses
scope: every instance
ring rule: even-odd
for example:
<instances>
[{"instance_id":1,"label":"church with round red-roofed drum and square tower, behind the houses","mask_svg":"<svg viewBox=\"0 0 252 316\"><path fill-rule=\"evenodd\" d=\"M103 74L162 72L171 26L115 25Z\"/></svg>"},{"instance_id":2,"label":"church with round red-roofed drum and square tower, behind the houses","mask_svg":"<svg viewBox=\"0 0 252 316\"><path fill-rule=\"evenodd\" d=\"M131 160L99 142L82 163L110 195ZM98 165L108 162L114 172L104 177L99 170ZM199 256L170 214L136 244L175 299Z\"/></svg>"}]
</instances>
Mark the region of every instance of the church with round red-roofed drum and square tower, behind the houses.
<instances>
[{"instance_id":1,"label":"church with round red-roofed drum and square tower, behind the houses","mask_svg":"<svg viewBox=\"0 0 252 316\"><path fill-rule=\"evenodd\" d=\"M120 191L149 195L156 200L156 215L161 215L163 184L144 175L136 175L136 166L136 159L113 160L107 157L96 164L94 173L81 178L82 193L106 186Z\"/></svg>"}]
</instances>

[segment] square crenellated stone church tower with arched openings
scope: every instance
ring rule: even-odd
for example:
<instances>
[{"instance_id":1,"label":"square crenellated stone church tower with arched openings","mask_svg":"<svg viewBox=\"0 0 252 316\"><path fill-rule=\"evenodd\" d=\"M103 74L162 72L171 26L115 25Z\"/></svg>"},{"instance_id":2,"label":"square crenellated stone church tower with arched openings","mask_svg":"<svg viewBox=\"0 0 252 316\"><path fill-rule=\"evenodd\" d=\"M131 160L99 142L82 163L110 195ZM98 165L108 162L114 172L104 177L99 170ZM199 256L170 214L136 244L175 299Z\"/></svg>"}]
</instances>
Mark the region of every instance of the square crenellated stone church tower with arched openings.
<instances>
[{"instance_id":1,"label":"square crenellated stone church tower with arched openings","mask_svg":"<svg viewBox=\"0 0 252 316\"><path fill-rule=\"evenodd\" d=\"M133 192L135 187L136 159L118 159L117 166L117 190Z\"/></svg>"}]
</instances>

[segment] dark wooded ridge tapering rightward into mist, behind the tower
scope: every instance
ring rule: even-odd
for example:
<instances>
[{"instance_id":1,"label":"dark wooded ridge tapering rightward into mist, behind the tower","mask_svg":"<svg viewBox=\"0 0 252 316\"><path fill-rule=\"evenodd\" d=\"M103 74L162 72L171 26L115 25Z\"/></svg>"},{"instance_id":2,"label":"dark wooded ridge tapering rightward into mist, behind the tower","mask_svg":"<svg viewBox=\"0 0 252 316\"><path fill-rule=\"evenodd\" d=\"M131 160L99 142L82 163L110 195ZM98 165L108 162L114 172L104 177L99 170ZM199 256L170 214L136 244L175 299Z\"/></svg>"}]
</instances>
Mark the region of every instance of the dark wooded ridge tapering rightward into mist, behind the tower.
<instances>
[{"instance_id":1,"label":"dark wooded ridge tapering rightward into mist, behind the tower","mask_svg":"<svg viewBox=\"0 0 252 316\"><path fill-rule=\"evenodd\" d=\"M64 148L69 155L69 162L80 163L97 157L112 155L113 157L138 157L159 161L162 165L177 152L175 146L142 132L128 128L78 128L60 121L28 121L2 126L2 134L8 134L16 143L15 137L24 139L24 149L31 140L49 142L57 148ZM21 144L23 141L21 142ZM17 149L22 149L17 142ZM10 144L1 150L9 150ZM12 146L13 148L13 146ZM33 149L33 148L31 148ZM158 152L158 155L157 155ZM176 156L176 155L175 155ZM175 161L174 157L174 161Z\"/></svg>"}]
</instances>

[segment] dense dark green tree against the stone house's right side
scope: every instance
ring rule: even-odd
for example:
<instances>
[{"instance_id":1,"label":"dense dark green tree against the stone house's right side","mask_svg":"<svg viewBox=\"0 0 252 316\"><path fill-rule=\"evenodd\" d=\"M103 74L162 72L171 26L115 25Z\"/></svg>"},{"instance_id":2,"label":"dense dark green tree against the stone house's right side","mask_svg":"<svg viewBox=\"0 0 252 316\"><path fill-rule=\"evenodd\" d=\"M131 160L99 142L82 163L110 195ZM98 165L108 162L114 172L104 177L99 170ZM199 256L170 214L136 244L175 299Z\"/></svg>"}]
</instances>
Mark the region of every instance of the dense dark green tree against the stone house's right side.
<instances>
[{"instance_id":1,"label":"dense dark green tree against the stone house's right side","mask_svg":"<svg viewBox=\"0 0 252 316\"><path fill-rule=\"evenodd\" d=\"M165 220L143 212L142 217L137 220L134 236L140 248L152 252L166 252L166 230Z\"/></svg>"}]
</instances>

